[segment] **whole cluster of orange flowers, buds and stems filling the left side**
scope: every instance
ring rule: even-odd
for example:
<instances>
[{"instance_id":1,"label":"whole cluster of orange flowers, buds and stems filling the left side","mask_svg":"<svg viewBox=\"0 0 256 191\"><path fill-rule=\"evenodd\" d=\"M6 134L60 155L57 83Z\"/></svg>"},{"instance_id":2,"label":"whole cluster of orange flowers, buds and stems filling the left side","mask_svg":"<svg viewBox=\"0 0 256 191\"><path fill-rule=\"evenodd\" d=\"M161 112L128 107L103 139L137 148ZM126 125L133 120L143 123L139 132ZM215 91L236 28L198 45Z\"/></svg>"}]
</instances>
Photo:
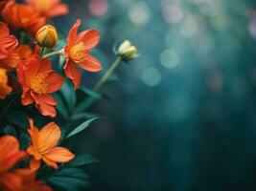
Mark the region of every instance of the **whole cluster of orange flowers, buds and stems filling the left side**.
<instances>
[{"instance_id":1,"label":"whole cluster of orange flowers, buds and stems filling the left side","mask_svg":"<svg viewBox=\"0 0 256 191\"><path fill-rule=\"evenodd\" d=\"M85 110L82 107L84 100L81 100L80 107L76 108L73 104L71 112L57 111L57 106L61 107L58 93L63 84L69 84L68 92L76 96L76 90L82 86L81 72L95 73L103 69L91 53L99 44L100 33L95 29L78 32L80 19L71 26L65 39L66 45L56 48L58 31L48 22L52 17L67 14L68 11L68 6L60 0L0 1L0 124L5 127L0 127L0 190L53 190L49 185L55 184L57 179L47 180L44 177L44 180L38 180L38 177L45 168L62 172L58 170L59 163L65 170L63 163L79 158L60 144L64 138L81 132L97 118L84 117L85 122L78 128L74 131L67 128L64 133L61 133L63 128L55 120L58 112L67 113L62 120L73 124L74 111ZM117 55L118 59L92 92L105 84L120 61L135 58L137 50L125 41L117 49ZM55 59L51 59L52 56ZM60 58L64 58L62 63ZM68 92L64 92L64 96ZM94 99L89 96L85 102L88 100L93 102ZM15 121L18 110L22 111L18 114L20 117L25 116L22 122L26 124L29 121L27 126ZM40 123L37 119L40 117L47 118L48 122ZM42 128L37 128L35 124L41 124ZM79 164L82 164L81 159Z\"/></svg>"}]
</instances>

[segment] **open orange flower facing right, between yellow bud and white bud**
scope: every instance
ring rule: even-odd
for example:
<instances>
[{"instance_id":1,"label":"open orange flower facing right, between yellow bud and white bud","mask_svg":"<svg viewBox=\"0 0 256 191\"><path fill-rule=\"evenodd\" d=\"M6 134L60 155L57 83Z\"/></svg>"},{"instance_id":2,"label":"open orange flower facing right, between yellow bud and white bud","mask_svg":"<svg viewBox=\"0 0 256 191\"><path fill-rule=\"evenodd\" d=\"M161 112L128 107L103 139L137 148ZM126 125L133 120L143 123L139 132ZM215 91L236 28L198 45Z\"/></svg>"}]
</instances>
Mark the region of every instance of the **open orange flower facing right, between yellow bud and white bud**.
<instances>
[{"instance_id":1,"label":"open orange flower facing right, between yellow bud and white bud","mask_svg":"<svg viewBox=\"0 0 256 191\"><path fill-rule=\"evenodd\" d=\"M91 50L99 43L100 34L97 30L88 30L78 34L81 20L78 19L69 31L67 46L64 47L66 54L65 74L73 81L77 89L81 83L81 73L77 66L89 72L102 70L101 63L90 55Z\"/></svg>"}]
</instances>

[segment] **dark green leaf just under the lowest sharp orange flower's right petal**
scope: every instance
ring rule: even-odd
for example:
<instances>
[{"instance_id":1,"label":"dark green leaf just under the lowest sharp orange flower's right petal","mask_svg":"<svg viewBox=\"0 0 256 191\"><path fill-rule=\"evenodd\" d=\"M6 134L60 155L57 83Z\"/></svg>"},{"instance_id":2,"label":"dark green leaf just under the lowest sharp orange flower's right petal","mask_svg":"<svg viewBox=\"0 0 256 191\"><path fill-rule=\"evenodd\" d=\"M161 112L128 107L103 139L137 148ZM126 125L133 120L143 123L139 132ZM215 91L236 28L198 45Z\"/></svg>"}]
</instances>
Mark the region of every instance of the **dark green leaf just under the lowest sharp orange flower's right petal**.
<instances>
[{"instance_id":1,"label":"dark green leaf just under the lowest sharp orange flower's right petal","mask_svg":"<svg viewBox=\"0 0 256 191\"><path fill-rule=\"evenodd\" d=\"M81 155L78 155L71 162L69 162L68 166L76 167L76 166L81 166L84 164L89 164L89 163L94 163L94 162L100 162L100 160L94 158L93 156L87 155L87 154L81 154Z\"/></svg>"}]
</instances>

